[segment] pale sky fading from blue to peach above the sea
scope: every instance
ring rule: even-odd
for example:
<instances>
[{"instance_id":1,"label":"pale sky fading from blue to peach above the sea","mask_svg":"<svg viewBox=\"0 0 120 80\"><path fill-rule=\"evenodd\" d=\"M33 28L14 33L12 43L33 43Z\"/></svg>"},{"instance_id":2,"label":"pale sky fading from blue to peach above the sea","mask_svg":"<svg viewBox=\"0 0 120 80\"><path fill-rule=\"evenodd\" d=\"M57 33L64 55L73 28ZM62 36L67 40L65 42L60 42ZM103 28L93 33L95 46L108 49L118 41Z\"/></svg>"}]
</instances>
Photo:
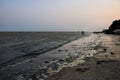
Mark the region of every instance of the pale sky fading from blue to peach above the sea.
<instances>
[{"instance_id":1,"label":"pale sky fading from blue to peach above the sea","mask_svg":"<svg viewBox=\"0 0 120 80\"><path fill-rule=\"evenodd\" d=\"M120 0L0 0L0 31L101 31Z\"/></svg>"}]
</instances>

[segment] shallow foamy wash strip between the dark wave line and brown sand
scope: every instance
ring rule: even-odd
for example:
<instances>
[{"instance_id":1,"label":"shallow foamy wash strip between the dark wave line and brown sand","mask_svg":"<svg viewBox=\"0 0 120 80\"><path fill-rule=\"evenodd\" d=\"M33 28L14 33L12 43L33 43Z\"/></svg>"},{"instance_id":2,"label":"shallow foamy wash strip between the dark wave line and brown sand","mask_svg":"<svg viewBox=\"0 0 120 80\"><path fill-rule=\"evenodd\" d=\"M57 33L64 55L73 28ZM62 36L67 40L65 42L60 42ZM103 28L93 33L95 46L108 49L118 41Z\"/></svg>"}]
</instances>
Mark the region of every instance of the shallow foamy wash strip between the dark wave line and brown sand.
<instances>
[{"instance_id":1,"label":"shallow foamy wash strip between the dark wave line and brown sand","mask_svg":"<svg viewBox=\"0 0 120 80\"><path fill-rule=\"evenodd\" d=\"M0 78L4 80L26 80L33 78L36 78L36 80L45 80L50 75L60 71L63 67L73 67L78 63L83 62L81 59L82 57L92 56L89 52L94 53L93 47L91 47L91 44L95 41L94 38L96 38L96 36L92 34L91 36L77 39L60 48L39 55L36 58L28 60L27 62L12 65L12 67L8 67L7 69L0 71L0 74L2 74ZM92 46L97 44L98 42ZM86 46L90 47L89 51ZM75 60L78 61L77 64ZM10 76L12 78L9 78Z\"/></svg>"}]
</instances>

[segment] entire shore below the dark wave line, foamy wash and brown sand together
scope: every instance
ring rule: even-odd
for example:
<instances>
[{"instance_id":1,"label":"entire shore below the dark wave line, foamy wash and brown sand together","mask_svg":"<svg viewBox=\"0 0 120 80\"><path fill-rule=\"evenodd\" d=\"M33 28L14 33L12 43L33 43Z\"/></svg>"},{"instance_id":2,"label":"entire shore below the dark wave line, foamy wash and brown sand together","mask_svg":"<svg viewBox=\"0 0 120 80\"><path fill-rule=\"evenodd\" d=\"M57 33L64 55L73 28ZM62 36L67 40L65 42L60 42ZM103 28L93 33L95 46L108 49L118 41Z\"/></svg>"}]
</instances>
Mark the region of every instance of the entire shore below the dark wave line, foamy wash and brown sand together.
<instances>
[{"instance_id":1,"label":"entire shore below the dark wave line, foamy wash and brown sand together","mask_svg":"<svg viewBox=\"0 0 120 80\"><path fill-rule=\"evenodd\" d=\"M120 36L77 38L37 57L3 67L1 80L119 80Z\"/></svg>"}]
</instances>

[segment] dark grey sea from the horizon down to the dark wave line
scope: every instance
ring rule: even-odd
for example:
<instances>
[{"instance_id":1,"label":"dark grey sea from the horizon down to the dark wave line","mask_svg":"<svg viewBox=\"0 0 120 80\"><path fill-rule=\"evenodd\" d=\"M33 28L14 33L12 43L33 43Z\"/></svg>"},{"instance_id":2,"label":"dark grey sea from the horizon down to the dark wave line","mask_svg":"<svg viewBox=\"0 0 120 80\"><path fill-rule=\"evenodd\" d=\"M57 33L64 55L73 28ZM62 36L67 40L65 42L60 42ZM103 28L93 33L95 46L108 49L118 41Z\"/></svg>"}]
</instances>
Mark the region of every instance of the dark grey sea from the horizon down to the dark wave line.
<instances>
[{"instance_id":1,"label":"dark grey sea from the horizon down to the dark wave line","mask_svg":"<svg viewBox=\"0 0 120 80\"><path fill-rule=\"evenodd\" d=\"M39 55L78 37L79 32L0 33L0 64Z\"/></svg>"}]
</instances>

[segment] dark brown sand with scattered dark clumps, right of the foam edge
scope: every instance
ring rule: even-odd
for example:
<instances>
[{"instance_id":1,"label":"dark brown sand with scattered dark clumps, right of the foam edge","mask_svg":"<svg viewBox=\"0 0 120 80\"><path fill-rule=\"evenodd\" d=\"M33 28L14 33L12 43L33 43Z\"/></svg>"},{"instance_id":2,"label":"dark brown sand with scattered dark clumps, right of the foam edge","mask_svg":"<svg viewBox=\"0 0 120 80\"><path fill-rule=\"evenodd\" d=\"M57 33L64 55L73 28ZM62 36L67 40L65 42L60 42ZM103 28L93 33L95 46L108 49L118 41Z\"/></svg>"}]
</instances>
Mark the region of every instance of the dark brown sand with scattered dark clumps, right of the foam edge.
<instances>
[{"instance_id":1,"label":"dark brown sand with scattered dark clumps, right of the foam edge","mask_svg":"<svg viewBox=\"0 0 120 80\"><path fill-rule=\"evenodd\" d=\"M48 80L120 80L120 36L99 35L93 57L75 67L64 68Z\"/></svg>"}]
</instances>

